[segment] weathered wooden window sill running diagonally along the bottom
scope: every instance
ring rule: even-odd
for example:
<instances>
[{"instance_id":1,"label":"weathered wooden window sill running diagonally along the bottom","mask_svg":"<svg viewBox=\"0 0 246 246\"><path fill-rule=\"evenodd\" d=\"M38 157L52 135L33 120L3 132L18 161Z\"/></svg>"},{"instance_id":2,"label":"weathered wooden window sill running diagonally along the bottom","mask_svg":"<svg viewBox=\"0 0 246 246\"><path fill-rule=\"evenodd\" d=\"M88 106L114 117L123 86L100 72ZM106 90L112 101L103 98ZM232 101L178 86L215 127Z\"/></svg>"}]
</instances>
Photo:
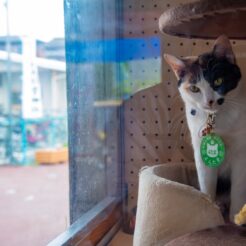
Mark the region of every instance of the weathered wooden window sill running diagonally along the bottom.
<instances>
[{"instance_id":1,"label":"weathered wooden window sill running diagonally along the bottom","mask_svg":"<svg viewBox=\"0 0 246 246\"><path fill-rule=\"evenodd\" d=\"M97 245L121 217L122 203L115 198L105 198L48 246Z\"/></svg>"}]
</instances>

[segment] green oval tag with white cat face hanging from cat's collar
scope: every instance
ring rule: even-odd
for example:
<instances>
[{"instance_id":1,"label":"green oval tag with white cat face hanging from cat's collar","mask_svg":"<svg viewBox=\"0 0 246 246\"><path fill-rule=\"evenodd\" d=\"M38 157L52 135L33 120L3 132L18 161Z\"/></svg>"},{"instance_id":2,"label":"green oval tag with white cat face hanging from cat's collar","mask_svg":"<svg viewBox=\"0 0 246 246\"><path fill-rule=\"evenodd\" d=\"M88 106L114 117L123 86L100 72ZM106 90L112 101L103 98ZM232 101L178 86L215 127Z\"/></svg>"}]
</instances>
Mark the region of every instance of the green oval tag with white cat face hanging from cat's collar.
<instances>
[{"instance_id":1,"label":"green oval tag with white cat face hanging from cat's collar","mask_svg":"<svg viewBox=\"0 0 246 246\"><path fill-rule=\"evenodd\" d=\"M219 167L225 159L225 144L214 133L202 138L200 151L202 160L208 167Z\"/></svg>"}]
</instances>

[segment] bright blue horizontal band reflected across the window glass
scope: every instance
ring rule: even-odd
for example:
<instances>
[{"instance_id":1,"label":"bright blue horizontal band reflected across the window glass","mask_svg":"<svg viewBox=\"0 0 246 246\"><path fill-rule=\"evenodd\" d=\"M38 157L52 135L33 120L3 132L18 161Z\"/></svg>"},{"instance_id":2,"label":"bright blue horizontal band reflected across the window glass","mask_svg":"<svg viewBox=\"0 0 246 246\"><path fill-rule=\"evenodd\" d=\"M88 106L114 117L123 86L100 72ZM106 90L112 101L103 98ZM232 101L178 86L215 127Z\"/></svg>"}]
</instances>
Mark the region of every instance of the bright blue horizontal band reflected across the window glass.
<instances>
[{"instance_id":1,"label":"bright blue horizontal band reflected across the window glass","mask_svg":"<svg viewBox=\"0 0 246 246\"><path fill-rule=\"evenodd\" d=\"M67 41L67 62L126 62L160 56L160 39L129 38L112 40Z\"/></svg>"}]
</instances>

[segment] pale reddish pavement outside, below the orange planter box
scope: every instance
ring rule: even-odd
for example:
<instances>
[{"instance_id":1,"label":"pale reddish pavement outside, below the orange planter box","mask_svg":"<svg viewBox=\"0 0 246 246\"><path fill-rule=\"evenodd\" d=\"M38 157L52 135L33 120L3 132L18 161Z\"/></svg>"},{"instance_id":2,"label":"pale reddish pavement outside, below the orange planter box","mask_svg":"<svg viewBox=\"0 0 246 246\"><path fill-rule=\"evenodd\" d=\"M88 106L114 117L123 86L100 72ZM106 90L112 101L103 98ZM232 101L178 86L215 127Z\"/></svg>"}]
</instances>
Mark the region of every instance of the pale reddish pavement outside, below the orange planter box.
<instances>
[{"instance_id":1,"label":"pale reddish pavement outside, below the orange planter box","mask_svg":"<svg viewBox=\"0 0 246 246\"><path fill-rule=\"evenodd\" d=\"M0 245L44 246L69 224L68 165L0 166Z\"/></svg>"}]
</instances>

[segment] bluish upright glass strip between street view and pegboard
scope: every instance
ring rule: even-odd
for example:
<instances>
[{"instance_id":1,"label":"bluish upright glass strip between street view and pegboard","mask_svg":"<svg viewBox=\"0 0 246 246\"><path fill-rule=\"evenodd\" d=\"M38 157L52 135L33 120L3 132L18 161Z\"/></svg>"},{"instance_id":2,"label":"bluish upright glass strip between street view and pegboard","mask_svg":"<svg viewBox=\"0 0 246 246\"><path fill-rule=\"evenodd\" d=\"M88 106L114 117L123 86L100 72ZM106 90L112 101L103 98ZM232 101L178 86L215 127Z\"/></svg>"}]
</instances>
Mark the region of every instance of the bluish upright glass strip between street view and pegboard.
<instances>
[{"instance_id":1,"label":"bluish upright glass strip between street view and pegboard","mask_svg":"<svg viewBox=\"0 0 246 246\"><path fill-rule=\"evenodd\" d=\"M119 196L116 8L114 1L65 1L72 221Z\"/></svg>"}]
</instances>

